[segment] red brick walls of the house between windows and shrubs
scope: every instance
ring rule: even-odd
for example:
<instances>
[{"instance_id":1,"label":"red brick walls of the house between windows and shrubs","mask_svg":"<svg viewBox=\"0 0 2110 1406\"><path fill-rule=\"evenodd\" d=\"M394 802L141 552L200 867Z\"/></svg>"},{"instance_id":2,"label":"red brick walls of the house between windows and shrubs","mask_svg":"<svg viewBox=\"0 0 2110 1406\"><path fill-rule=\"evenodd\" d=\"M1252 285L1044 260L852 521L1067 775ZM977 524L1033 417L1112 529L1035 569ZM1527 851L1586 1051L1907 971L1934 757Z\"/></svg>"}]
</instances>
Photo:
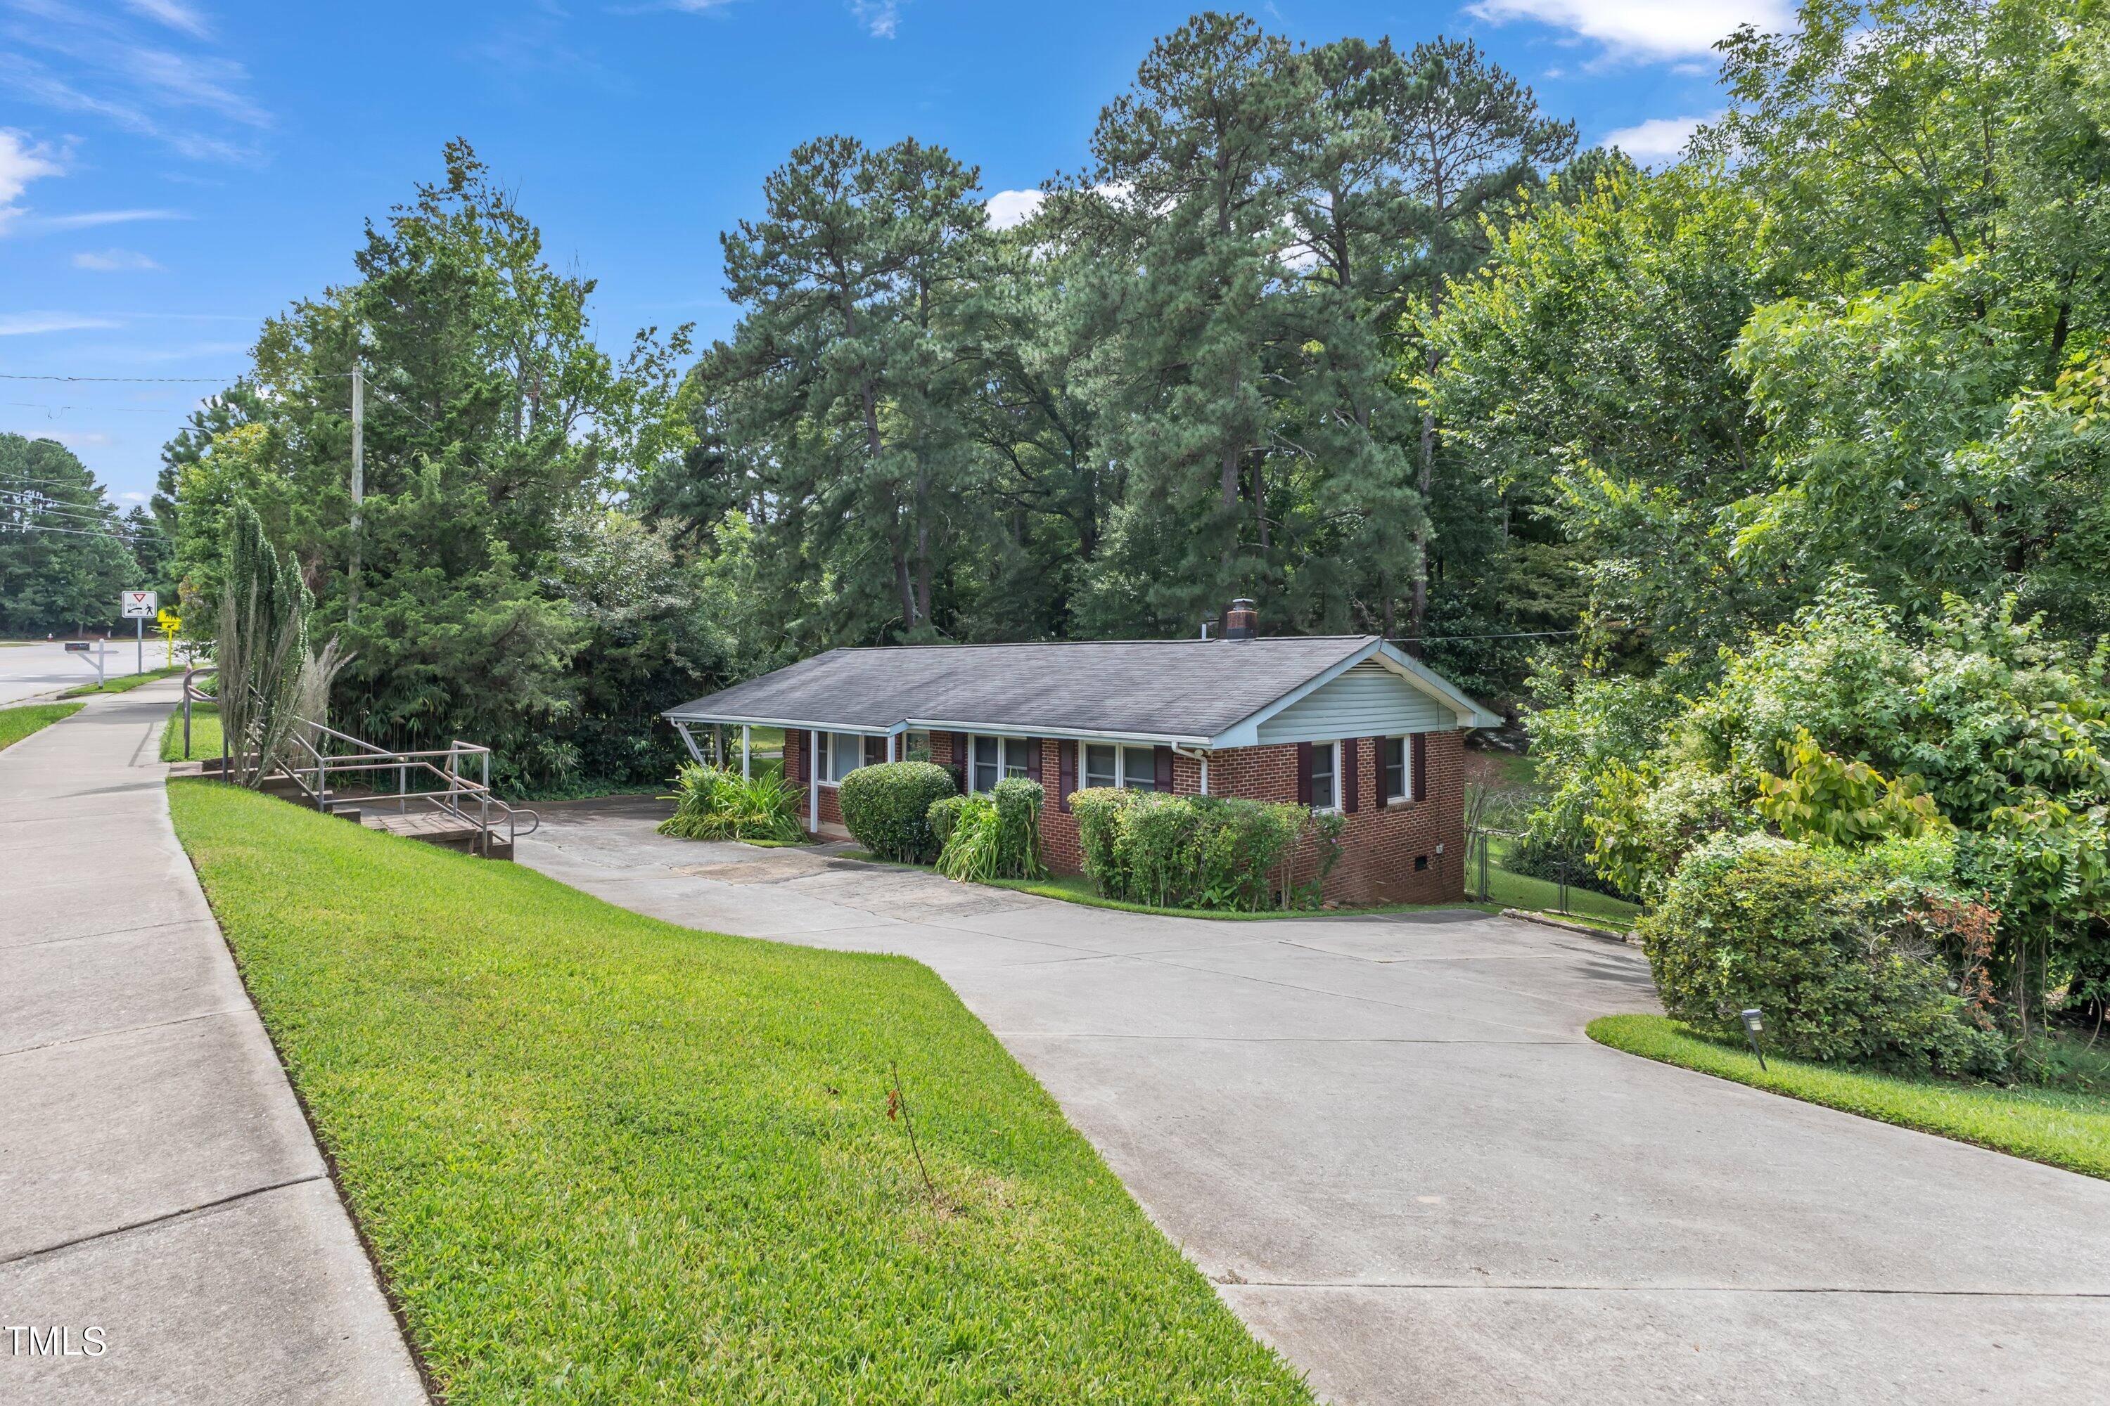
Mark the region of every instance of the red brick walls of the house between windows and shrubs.
<instances>
[{"instance_id":1,"label":"red brick walls of the house between windows and shrubs","mask_svg":"<svg viewBox=\"0 0 2110 1406\"><path fill-rule=\"evenodd\" d=\"M1357 809L1342 833L1340 860L1327 875L1323 896L1329 902L1454 902L1464 898L1464 734L1426 734L1426 799L1386 805L1382 757L1369 738L1357 742ZM1082 742L1078 744L1082 757ZM952 734L931 734L931 761L954 765ZM1082 767L1082 761L1078 761ZM806 814L806 734L785 734L785 776L800 778L800 816ZM1346 782L1346 778L1342 778ZM1061 742L1040 742L1040 784L1047 803L1040 812L1040 856L1055 873L1080 873L1076 816L1061 809ZM1209 790L1249 801L1298 799L1296 744L1239 746L1209 759ZM1201 793L1201 763L1173 757L1173 795ZM1346 793L1346 786L1344 786ZM821 820L842 824L836 790L821 788ZM1437 847L1441 845L1441 854ZM1414 862L1426 858L1426 868ZM1308 843L1298 858L1300 875L1317 871L1317 845Z\"/></svg>"}]
</instances>

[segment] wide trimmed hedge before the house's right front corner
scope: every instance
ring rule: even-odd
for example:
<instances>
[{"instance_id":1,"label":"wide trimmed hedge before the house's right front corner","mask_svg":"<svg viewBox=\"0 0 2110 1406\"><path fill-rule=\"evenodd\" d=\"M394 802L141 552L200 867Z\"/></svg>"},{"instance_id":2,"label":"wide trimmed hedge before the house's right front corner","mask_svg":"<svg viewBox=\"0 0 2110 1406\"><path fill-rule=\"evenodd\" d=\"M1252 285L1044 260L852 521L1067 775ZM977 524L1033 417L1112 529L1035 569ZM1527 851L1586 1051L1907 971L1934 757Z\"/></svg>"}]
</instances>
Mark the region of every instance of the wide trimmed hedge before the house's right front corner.
<instances>
[{"instance_id":1,"label":"wide trimmed hedge before the house's right front corner","mask_svg":"<svg viewBox=\"0 0 2110 1406\"><path fill-rule=\"evenodd\" d=\"M1300 805L1095 786L1070 797L1085 873L1158 909L1289 906L1289 858L1317 826Z\"/></svg>"}]
</instances>

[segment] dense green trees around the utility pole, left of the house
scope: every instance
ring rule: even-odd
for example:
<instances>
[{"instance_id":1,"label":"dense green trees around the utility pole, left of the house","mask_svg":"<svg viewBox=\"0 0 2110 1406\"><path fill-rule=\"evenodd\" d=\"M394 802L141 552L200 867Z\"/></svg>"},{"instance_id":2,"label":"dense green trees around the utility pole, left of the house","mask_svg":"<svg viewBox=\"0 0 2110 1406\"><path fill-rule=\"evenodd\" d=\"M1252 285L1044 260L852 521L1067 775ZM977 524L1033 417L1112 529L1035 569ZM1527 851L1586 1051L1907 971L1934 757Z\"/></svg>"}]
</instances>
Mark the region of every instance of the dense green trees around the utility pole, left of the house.
<instances>
[{"instance_id":1,"label":"dense green trees around the utility pole, left of the house","mask_svg":"<svg viewBox=\"0 0 2110 1406\"><path fill-rule=\"evenodd\" d=\"M352 282L266 323L253 377L167 447L186 630L213 632L228 512L249 502L352 656L335 687L350 731L490 744L511 786L667 776L656 712L738 649L734 578L620 512L625 485L690 441L684 333L601 352L593 282L549 266L466 143L445 167L367 228Z\"/></svg>"}]
</instances>

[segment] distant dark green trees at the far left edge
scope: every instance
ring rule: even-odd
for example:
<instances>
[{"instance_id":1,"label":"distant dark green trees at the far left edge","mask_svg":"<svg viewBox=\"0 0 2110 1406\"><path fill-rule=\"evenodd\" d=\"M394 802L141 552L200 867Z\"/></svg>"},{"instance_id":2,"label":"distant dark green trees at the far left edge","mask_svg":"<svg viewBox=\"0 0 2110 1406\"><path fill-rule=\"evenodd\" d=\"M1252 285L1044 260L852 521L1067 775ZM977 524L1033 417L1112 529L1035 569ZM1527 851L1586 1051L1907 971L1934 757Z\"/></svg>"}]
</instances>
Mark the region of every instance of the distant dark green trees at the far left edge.
<instances>
[{"instance_id":1,"label":"distant dark green trees at the far left edge","mask_svg":"<svg viewBox=\"0 0 2110 1406\"><path fill-rule=\"evenodd\" d=\"M0 434L0 637L118 624L118 597L154 588L160 527L118 514L72 449Z\"/></svg>"}]
</instances>

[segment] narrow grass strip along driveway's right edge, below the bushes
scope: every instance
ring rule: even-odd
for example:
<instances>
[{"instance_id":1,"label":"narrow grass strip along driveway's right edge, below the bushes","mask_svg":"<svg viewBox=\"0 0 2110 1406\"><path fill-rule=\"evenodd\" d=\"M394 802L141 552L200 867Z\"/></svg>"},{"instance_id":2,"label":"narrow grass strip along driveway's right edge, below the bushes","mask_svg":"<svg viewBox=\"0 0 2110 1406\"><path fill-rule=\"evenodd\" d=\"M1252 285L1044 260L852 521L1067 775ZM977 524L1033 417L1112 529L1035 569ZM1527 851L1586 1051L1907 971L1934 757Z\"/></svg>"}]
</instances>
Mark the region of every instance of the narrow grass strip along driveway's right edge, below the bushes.
<instances>
[{"instance_id":1,"label":"narrow grass strip along driveway's right edge, below the bushes","mask_svg":"<svg viewBox=\"0 0 2110 1406\"><path fill-rule=\"evenodd\" d=\"M1701 1039L1665 1016L1604 1016L1589 1022L1597 1043L1665 1065L1737 1079L1827 1109L1939 1132L2002 1153L2110 1178L2110 1098L2047 1088L2000 1088L1956 1079L1905 1079L1840 1065L1766 1056Z\"/></svg>"}]
</instances>

